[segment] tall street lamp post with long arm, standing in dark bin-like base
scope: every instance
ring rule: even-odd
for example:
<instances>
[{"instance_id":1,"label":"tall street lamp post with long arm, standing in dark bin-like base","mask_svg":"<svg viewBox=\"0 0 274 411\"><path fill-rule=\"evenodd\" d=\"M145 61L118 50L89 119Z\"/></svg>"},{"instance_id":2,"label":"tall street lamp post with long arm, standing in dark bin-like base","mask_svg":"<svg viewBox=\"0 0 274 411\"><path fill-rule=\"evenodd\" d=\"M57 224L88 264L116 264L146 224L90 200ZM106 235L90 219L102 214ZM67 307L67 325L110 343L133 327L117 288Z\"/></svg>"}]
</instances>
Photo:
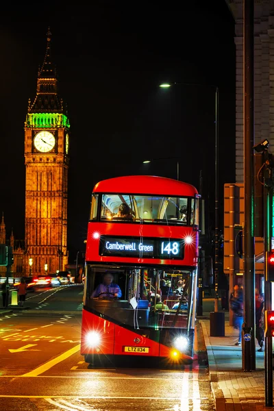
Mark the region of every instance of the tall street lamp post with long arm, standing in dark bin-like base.
<instances>
[{"instance_id":1,"label":"tall street lamp post with long arm, standing in dark bin-like base","mask_svg":"<svg viewBox=\"0 0 274 411\"><path fill-rule=\"evenodd\" d=\"M223 312L218 312L218 284L219 284L219 87L207 84L198 83L164 83L160 84L162 88L171 86L210 86L215 89L215 231L214 231L214 312L210 313L210 334L212 336L225 335L225 316ZM214 315L215 314L215 315Z\"/></svg>"}]
</instances>

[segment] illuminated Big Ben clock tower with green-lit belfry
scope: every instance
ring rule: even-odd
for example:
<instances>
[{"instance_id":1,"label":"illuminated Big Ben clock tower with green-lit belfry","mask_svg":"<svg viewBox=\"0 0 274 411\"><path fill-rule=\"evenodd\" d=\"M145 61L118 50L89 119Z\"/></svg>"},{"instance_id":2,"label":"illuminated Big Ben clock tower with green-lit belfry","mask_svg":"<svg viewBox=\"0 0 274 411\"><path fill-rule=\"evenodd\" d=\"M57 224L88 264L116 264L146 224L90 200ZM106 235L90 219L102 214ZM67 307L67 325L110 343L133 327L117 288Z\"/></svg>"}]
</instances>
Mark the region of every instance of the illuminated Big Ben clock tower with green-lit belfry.
<instances>
[{"instance_id":1,"label":"illuminated Big Ben clock tower with green-lit belfry","mask_svg":"<svg viewBox=\"0 0 274 411\"><path fill-rule=\"evenodd\" d=\"M69 127L48 30L36 97L29 100L25 121L25 269L32 275L64 271L68 262Z\"/></svg>"}]
</instances>

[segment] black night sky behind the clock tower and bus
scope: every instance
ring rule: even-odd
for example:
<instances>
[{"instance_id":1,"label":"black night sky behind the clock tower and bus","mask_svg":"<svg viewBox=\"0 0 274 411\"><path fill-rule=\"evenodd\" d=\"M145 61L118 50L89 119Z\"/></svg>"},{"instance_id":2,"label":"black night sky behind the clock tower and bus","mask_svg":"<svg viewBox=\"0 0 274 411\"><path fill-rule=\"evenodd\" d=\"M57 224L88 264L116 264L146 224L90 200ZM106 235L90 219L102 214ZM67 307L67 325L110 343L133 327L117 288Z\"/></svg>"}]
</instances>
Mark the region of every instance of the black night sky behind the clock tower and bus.
<instances>
[{"instance_id":1,"label":"black night sky behind the clock tower and bus","mask_svg":"<svg viewBox=\"0 0 274 411\"><path fill-rule=\"evenodd\" d=\"M219 200L235 182L234 20L225 0L55 1L1 10L0 210L24 238L24 121L50 26L59 95L71 122L68 246L84 249L90 196L101 179L151 174L199 189L214 215L215 88ZM87 8L88 7L88 8ZM195 83L163 90L162 82ZM175 158L154 160L147 158Z\"/></svg>"}]
</instances>

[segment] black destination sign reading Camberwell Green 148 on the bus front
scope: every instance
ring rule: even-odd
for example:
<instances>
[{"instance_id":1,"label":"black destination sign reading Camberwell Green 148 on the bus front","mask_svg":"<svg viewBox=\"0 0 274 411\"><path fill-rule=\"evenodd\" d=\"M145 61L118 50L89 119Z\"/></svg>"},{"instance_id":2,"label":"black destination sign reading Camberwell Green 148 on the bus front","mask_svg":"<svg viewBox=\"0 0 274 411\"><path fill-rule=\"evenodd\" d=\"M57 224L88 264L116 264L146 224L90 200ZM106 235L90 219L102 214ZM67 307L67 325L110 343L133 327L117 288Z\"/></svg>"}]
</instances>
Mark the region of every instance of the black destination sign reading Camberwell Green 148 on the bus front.
<instances>
[{"instance_id":1,"label":"black destination sign reading Camberwell Green 148 on the bus front","mask_svg":"<svg viewBox=\"0 0 274 411\"><path fill-rule=\"evenodd\" d=\"M100 237L101 256L184 258L184 240L171 238Z\"/></svg>"}]
</instances>

